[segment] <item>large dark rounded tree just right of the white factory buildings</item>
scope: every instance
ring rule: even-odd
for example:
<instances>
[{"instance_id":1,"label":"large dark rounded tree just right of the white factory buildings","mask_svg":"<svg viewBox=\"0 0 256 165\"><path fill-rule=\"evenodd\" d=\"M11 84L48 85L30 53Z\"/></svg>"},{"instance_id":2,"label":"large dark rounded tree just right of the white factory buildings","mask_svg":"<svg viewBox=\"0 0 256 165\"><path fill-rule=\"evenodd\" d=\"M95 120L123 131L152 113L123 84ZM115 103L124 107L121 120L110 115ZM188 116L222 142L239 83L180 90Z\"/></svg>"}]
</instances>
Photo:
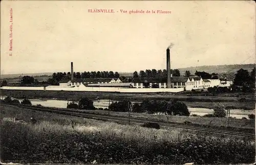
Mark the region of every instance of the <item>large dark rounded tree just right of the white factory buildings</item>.
<instances>
[{"instance_id":1,"label":"large dark rounded tree just right of the white factory buildings","mask_svg":"<svg viewBox=\"0 0 256 165\"><path fill-rule=\"evenodd\" d=\"M240 69L235 74L236 77L234 78L234 85L235 86L244 86L246 83L250 84L250 75L248 70Z\"/></svg>"}]
</instances>

